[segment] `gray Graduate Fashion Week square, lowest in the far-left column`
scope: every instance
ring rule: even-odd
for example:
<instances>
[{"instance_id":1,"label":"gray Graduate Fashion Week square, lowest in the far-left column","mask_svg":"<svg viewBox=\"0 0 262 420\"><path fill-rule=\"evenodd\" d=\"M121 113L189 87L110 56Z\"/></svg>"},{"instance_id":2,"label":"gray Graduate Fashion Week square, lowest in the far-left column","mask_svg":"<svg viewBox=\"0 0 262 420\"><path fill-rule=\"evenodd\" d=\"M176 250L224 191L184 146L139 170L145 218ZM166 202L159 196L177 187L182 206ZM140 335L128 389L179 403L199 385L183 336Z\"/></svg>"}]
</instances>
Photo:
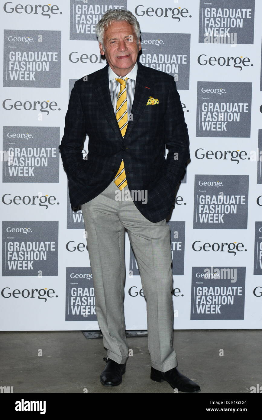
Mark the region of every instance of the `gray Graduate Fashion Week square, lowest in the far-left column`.
<instances>
[{"instance_id":1,"label":"gray Graduate Fashion Week square, lowest in the far-left column","mask_svg":"<svg viewBox=\"0 0 262 420\"><path fill-rule=\"evenodd\" d=\"M58 222L2 222L2 276L57 276Z\"/></svg>"}]
</instances>

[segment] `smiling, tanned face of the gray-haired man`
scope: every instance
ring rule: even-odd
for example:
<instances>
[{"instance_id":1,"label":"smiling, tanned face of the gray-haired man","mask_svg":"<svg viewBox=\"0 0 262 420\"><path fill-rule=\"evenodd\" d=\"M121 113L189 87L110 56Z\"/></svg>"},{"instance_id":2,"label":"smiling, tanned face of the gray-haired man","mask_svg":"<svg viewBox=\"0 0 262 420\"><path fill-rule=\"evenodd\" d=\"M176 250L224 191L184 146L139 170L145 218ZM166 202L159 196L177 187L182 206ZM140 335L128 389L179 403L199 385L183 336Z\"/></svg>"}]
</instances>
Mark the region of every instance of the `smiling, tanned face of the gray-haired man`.
<instances>
[{"instance_id":1,"label":"smiling, tanned face of the gray-haired man","mask_svg":"<svg viewBox=\"0 0 262 420\"><path fill-rule=\"evenodd\" d=\"M136 43L132 25L126 21L113 21L105 29L104 46L99 43L100 54L105 55L107 63L118 76L125 76L136 64L141 43Z\"/></svg>"}]
</instances>

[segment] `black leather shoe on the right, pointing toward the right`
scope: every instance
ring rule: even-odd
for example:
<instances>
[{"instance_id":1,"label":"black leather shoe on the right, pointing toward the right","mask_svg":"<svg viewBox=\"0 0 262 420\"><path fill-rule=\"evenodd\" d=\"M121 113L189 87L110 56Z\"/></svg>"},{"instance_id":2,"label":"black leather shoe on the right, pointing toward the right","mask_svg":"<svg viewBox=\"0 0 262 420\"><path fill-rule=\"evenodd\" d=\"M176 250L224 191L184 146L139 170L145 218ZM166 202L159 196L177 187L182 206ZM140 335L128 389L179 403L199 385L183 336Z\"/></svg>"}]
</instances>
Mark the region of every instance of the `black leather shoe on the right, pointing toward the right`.
<instances>
[{"instance_id":1,"label":"black leather shoe on the right, pointing toward the right","mask_svg":"<svg viewBox=\"0 0 262 420\"><path fill-rule=\"evenodd\" d=\"M152 381L157 382L167 381L173 389L177 388L181 392L200 392L200 386L182 375L176 367L173 367L173 369L167 372L161 372L151 367L150 378Z\"/></svg>"}]
</instances>

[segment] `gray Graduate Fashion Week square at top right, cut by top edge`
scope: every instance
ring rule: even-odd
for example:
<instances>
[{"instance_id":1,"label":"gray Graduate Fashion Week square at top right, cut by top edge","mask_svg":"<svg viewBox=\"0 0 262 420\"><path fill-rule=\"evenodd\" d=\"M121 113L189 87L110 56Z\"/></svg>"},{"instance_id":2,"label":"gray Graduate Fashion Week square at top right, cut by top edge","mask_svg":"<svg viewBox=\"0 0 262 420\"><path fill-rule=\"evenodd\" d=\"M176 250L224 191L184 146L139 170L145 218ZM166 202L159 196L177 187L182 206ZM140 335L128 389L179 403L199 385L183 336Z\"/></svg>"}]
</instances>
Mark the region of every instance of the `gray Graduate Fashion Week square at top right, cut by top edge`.
<instances>
[{"instance_id":1,"label":"gray Graduate Fashion Week square at top right, cut by top edge","mask_svg":"<svg viewBox=\"0 0 262 420\"><path fill-rule=\"evenodd\" d=\"M254 14L255 0L200 0L199 42L204 42L204 38L210 35L223 36L226 39L224 43L228 44L233 43L234 37L237 44L253 44Z\"/></svg>"}]
</instances>

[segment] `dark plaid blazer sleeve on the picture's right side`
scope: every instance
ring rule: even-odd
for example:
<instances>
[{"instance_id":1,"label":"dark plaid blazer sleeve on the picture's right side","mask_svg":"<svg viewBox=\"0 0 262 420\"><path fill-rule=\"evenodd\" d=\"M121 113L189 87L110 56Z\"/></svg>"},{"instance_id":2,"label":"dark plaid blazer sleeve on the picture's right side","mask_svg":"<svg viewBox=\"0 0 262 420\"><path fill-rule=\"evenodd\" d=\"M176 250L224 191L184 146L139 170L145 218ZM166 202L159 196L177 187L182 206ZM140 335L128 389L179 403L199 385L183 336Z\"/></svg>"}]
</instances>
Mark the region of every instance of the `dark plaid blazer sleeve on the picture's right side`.
<instances>
[{"instance_id":1,"label":"dark plaid blazer sleeve on the picture's right side","mask_svg":"<svg viewBox=\"0 0 262 420\"><path fill-rule=\"evenodd\" d=\"M166 176L174 189L183 175L189 154L189 135L176 82L172 79L165 112Z\"/></svg>"}]
</instances>

